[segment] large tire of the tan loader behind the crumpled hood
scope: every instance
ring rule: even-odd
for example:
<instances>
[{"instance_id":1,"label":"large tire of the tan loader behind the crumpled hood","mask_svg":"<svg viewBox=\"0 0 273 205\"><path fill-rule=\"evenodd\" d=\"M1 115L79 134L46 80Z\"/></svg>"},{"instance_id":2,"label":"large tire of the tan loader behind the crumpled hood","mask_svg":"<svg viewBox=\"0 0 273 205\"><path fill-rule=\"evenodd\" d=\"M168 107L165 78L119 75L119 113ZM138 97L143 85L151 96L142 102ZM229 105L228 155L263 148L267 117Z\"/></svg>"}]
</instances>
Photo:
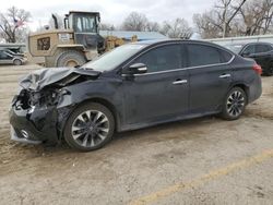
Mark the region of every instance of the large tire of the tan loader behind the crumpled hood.
<instances>
[{"instance_id":1,"label":"large tire of the tan loader behind the crumpled hood","mask_svg":"<svg viewBox=\"0 0 273 205\"><path fill-rule=\"evenodd\" d=\"M66 50L57 59L57 67L76 67L86 62L85 57L76 50Z\"/></svg>"}]
</instances>

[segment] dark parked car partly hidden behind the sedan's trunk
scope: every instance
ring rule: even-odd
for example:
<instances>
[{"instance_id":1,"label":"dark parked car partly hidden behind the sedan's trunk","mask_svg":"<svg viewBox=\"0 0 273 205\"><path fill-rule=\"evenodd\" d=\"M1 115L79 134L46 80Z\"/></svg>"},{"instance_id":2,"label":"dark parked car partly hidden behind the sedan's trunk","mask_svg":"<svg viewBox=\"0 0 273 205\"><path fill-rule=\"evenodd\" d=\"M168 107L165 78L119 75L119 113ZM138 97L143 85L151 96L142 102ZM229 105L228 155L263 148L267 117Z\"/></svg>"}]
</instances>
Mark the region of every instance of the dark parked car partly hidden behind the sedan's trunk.
<instances>
[{"instance_id":1,"label":"dark parked car partly hidden behind the sedan's trunk","mask_svg":"<svg viewBox=\"0 0 273 205\"><path fill-rule=\"evenodd\" d=\"M230 44L226 48L245 58L254 59L263 75L273 75L273 45L269 43Z\"/></svg>"}]
</instances>

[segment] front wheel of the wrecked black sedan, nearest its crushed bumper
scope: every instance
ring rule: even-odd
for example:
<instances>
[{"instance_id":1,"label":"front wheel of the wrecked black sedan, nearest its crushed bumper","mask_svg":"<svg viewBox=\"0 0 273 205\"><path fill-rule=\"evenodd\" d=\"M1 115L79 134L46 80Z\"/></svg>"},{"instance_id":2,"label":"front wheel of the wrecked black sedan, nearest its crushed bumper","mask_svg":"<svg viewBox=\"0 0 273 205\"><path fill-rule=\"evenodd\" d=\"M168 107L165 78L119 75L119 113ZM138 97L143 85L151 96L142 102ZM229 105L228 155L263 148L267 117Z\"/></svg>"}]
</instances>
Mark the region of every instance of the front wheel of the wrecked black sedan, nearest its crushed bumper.
<instances>
[{"instance_id":1,"label":"front wheel of the wrecked black sedan, nearest its crushed bumper","mask_svg":"<svg viewBox=\"0 0 273 205\"><path fill-rule=\"evenodd\" d=\"M76 108L64 125L64 140L75 149L95 150L106 145L114 135L115 119L100 104L88 102Z\"/></svg>"}]
</instances>

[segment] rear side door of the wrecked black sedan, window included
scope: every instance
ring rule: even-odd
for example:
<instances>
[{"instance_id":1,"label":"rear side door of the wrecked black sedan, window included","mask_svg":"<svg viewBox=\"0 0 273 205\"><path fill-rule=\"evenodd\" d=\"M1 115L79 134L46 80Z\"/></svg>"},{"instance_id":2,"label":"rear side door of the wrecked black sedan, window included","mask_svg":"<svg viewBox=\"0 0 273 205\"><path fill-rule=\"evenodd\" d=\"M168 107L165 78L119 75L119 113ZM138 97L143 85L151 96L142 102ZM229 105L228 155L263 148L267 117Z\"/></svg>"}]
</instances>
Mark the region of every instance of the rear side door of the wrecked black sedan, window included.
<instances>
[{"instance_id":1,"label":"rear side door of the wrecked black sedan, window included","mask_svg":"<svg viewBox=\"0 0 273 205\"><path fill-rule=\"evenodd\" d=\"M219 48L187 44L190 74L190 112L214 112L223 105L230 87L233 70L228 65L234 56Z\"/></svg>"}]
</instances>

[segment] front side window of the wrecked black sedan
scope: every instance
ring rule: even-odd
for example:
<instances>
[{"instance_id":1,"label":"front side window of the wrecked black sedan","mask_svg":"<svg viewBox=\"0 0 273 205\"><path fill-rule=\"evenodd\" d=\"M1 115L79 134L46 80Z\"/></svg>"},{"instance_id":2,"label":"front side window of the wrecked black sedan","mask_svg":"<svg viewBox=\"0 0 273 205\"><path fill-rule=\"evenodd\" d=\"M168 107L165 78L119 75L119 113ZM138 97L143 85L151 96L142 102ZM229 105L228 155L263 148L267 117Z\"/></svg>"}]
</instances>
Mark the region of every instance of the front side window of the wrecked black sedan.
<instances>
[{"instance_id":1,"label":"front side window of the wrecked black sedan","mask_svg":"<svg viewBox=\"0 0 273 205\"><path fill-rule=\"evenodd\" d=\"M180 69L180 45L169 45L155 48L138 58L134 63L146 64L147 72L158 72Z\"/></svg>"}]
</instances>

